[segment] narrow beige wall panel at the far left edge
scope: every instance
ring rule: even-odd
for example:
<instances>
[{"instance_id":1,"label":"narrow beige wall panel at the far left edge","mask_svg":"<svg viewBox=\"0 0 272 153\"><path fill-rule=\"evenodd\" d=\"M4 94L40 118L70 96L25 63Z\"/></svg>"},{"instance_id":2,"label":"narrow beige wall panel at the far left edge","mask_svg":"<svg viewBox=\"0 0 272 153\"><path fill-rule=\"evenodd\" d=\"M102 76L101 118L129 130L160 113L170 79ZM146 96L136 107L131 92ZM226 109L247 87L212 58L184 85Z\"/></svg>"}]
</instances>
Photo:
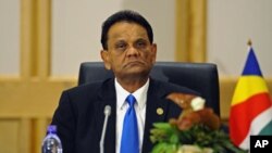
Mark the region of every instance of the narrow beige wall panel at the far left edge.
<instances>
[{"instance_id":1,"label":"narrow beige wall panel at the far left edge","mask_svg":"<svg viewBox=\"0 0 272 153\"><path fill-rule=\"evenodd\" d=\"M20 73L20 0L0 0L0 74Z\"/></svg>"}]
</instances>

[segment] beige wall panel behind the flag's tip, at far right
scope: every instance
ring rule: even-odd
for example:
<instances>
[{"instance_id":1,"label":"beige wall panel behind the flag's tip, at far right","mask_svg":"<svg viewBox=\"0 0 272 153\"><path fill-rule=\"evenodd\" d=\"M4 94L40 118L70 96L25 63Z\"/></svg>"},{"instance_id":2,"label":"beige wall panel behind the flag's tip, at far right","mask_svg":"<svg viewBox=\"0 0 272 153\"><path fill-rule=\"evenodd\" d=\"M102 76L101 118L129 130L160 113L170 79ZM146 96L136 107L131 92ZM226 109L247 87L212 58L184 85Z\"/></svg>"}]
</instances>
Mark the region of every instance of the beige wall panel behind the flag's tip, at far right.
<instances>
[{"instance_id":1,"label":"beige wall panel behind the flag's tip, at far right","mask_svg":"<svg viewBox=\"0 0 272 153\"><path fill-rule=\"evenodd\" d=\"M252 40L262 73L272 76L272 1L209 0L208 61L221 76L239 76Z\"/></svg>"}]
</instances>

